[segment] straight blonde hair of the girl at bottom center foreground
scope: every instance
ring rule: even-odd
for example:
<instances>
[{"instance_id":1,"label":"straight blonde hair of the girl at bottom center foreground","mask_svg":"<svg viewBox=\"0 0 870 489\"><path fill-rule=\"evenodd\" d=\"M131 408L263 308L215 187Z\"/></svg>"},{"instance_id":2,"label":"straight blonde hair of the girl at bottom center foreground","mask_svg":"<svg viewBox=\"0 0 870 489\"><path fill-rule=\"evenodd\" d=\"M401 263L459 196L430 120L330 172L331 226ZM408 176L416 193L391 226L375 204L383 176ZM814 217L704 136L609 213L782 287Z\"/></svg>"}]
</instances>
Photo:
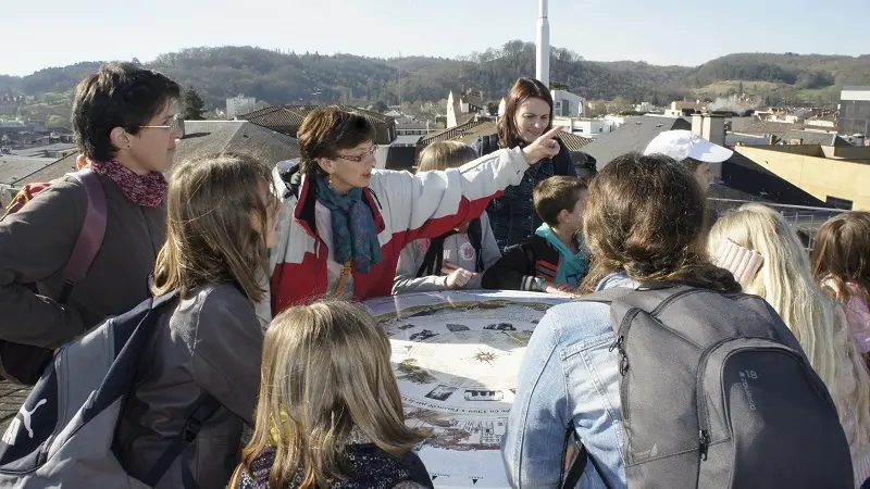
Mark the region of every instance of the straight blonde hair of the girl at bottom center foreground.
<instances>
[{"instance_id":1,"label":"straight blonde hair of the girl at bottom center foreground","mask_svg":"<svg viewBox=\"0 0 870 489\"><path fill-rule=\"evenodd\" d=\"M426 438L405 425L390 355L374 317L349 302L322 300L281 313L265 334L256 427L243 452L248 471L274 446L270 487L286 487L297 474L300 488L328 487L347 478L352 428L397 456Z\"/></svg>"}]
</instances>

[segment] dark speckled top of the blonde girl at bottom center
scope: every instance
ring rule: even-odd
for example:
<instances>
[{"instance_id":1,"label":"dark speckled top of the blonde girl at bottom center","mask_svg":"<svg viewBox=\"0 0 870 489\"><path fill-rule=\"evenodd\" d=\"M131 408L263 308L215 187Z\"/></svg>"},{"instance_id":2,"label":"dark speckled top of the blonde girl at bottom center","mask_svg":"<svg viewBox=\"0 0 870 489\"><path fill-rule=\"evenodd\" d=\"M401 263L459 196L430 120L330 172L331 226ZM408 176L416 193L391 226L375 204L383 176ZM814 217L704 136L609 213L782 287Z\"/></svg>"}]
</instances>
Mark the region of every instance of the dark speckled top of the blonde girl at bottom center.
<instances>
[{"instance_id":1,"label":"dark speckled top of the blonde girl at bottom center","mask_svg":"<svg viewBox=\"0 0 870 489\"><path fill-rule=\"evenodd\" d=\"M410 480L411 473L401 461L381 450L358 429L351 431L351 439L345 447L345 462L349 480L336 480L330 489L389 489L397 484ZM251 474L241 471L241 477L231 489L275 489L269 486L269 474L275 463L275 448L269 446L251 463ZM285 488L296 489L302 482L301 471Z\"/></svg>"}]
</instances>

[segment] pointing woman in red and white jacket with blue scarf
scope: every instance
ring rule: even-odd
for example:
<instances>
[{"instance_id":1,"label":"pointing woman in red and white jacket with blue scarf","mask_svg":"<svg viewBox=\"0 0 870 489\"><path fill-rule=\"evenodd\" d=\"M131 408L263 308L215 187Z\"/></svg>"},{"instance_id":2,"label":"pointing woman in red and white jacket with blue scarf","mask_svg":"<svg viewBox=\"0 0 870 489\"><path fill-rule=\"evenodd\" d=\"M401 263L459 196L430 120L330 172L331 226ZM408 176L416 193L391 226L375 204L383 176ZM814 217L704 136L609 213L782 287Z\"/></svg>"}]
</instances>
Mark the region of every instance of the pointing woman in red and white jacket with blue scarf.
<instances>
[{"instance_id":1,"label":"pointing woman in red and white jacket with blue scarf","mask_svg":"<svg viewBox=\"0 0 870 489\"><path fill-rule=\"evenodd\" d=\"M284 212L272 254L272 312L327 293L390 294L406 244L480 216L530 164L558 151L556 133L459 168L411 175L374 168L374 128L365 117L338 106L314 110L299 127L298 165L276 170Z\"/></svg>"}]
</instances>

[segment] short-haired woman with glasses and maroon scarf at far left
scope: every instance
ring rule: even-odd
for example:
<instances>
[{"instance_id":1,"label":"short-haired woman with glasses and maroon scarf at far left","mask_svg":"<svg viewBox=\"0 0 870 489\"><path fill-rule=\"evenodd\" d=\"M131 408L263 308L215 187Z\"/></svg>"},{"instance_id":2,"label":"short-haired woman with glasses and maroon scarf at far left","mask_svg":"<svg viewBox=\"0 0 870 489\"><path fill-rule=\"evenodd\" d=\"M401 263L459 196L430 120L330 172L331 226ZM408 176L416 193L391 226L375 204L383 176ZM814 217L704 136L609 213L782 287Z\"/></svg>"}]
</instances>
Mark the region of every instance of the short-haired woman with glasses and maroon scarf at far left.
<instances>
[{"instance_id":1,"label":"short-haired woman with glasses and maroon scarf at far left","mask_svg":"<svg viewBox=\"0 0 870 489\"><path fill-rule=\"evenodd\" d=\"M63 271L92 211L85 184L61 177L0 220L0 338L57 348L148 297L166 237L162 173L175 154L179 96L173 80L129 63L102 65L78 85L79 166L90 165L104 193L105 234L85 278L67 288Z\"/></svg>"}]
</instances>

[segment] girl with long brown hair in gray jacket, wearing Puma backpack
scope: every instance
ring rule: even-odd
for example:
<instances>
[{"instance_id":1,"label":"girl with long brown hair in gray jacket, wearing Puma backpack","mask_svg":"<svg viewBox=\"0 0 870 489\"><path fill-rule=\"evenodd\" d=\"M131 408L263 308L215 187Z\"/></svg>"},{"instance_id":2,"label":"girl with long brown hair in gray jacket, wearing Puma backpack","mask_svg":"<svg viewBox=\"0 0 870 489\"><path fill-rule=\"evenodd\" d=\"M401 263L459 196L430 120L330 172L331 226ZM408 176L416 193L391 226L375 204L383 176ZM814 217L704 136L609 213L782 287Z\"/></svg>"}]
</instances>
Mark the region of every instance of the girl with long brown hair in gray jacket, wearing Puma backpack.
<instances>
[{"instance_id":1,"label":"girl with long brown hair in gray jacket, wearing Puma backpack","mask_svg":"<svg viewBox=\"0 0 870 489\"><path fill-rule=\"evenodd\" d=\"M254 303L279 209L271 185L268 165L234 154L187 161L172 176L152 292L179 299L160 318L115 436L127 473L156 488L224 487L243 424L253 424L263 342ZM195 413L192 447L157 471L179 434L189 438Z\"/></svg>"}]
</instances>

